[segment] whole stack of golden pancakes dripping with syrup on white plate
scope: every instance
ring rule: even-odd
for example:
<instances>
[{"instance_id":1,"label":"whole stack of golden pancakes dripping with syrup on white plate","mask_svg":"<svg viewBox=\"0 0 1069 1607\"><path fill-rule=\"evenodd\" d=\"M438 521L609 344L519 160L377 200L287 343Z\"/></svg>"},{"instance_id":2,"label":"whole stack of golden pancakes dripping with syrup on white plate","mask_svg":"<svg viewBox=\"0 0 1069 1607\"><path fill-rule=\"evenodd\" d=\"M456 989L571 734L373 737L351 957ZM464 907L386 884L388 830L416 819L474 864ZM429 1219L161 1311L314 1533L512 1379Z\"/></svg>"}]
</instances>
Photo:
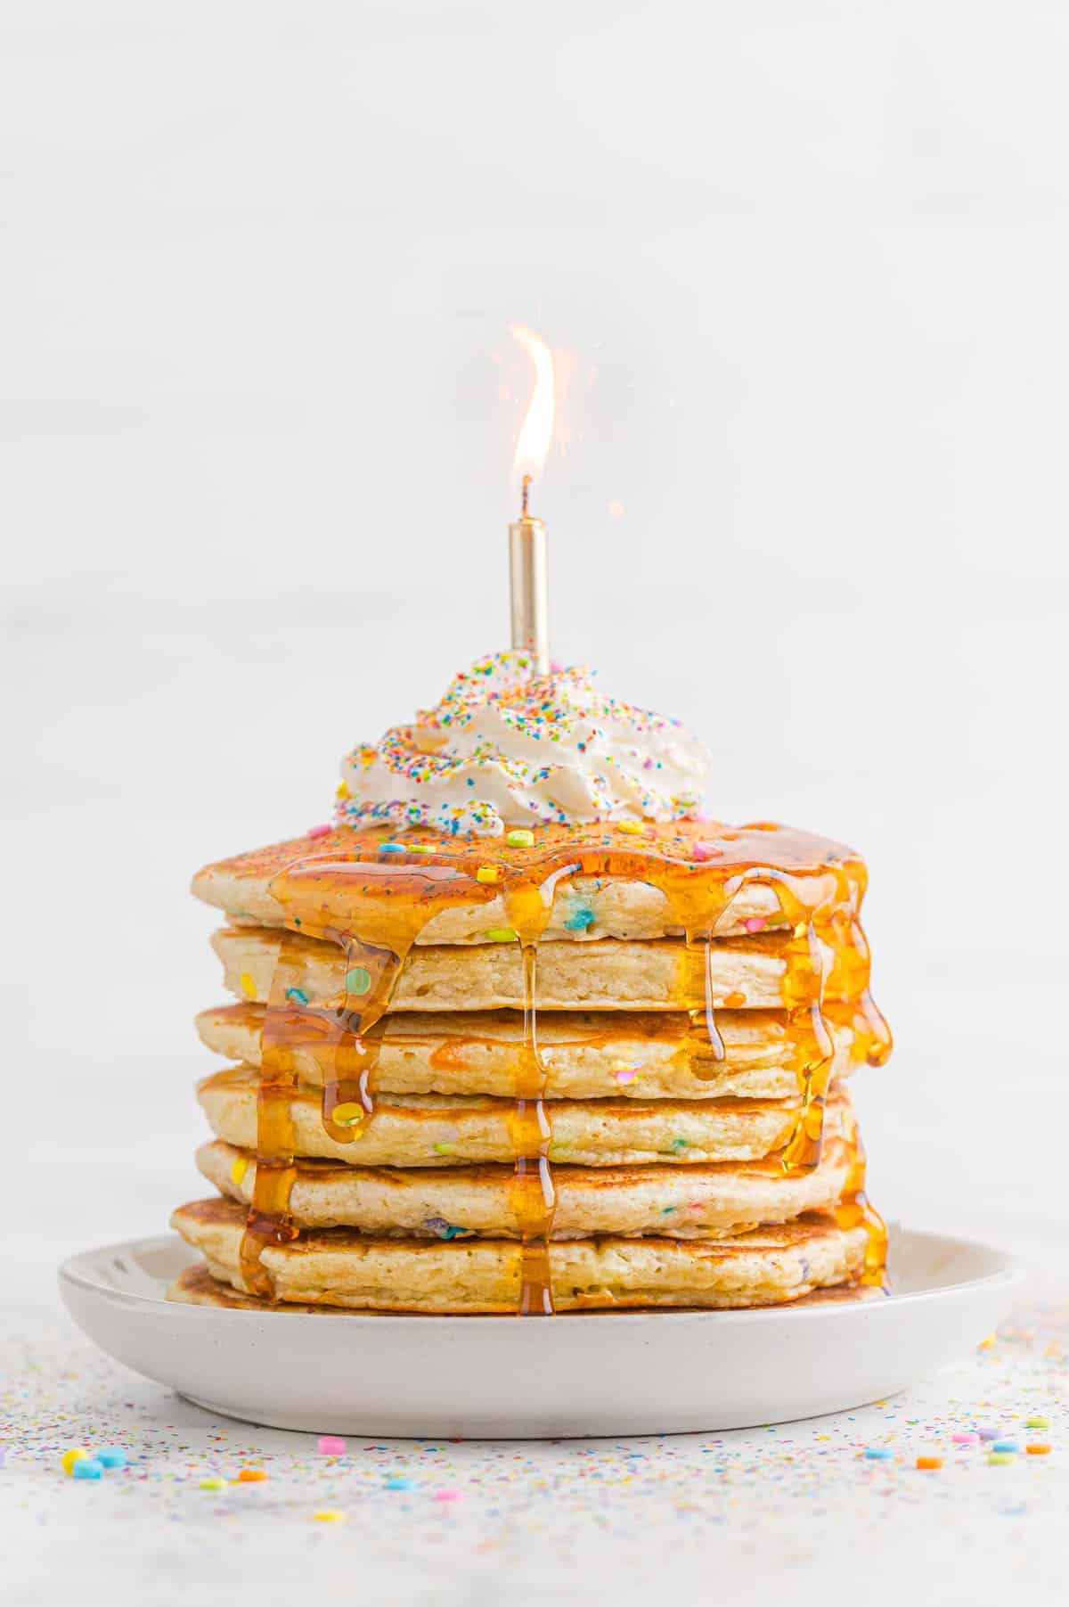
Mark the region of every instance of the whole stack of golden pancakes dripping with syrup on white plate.
<instances>
[{"instance_id":1,"label":"whole stack of golden pancakes dripping with syrup on white plate","mask_svg":"<svg viewBox=\"0 0 1069 1607\"><path fill-rule=\"evenodd\" d=\"M194 892L217 1197L172 1298L762 1306L872 1289L849 1073L886 1057L849 850L783 828L319 829Z\"/></svg>"}]
</instances>

